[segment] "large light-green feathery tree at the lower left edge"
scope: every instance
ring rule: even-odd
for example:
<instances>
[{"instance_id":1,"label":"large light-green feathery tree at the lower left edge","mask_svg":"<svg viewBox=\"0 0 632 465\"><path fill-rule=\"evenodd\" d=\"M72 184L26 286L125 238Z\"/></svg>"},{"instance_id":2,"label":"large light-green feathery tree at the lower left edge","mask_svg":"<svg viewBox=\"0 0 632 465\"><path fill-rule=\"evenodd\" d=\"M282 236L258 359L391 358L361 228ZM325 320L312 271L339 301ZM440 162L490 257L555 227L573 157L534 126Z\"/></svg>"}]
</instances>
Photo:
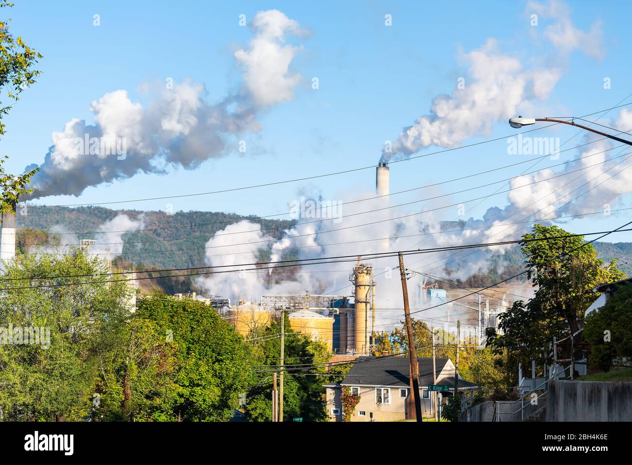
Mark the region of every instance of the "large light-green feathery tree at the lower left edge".
<instances>
[{"instance_id":1,"label":"large light-green feathery tree at the lower left edge","mask_svg":"<svg viewBox=\"0 0 632 465\"><path fill-rule=\"evenodd\" d=\"M81 250L31 254L8 263L7 280L0 285L4 420L88 415L102 347L130 315L128 287L109 282L105 271L104 260Z\"/></svg>"}]
</instances>

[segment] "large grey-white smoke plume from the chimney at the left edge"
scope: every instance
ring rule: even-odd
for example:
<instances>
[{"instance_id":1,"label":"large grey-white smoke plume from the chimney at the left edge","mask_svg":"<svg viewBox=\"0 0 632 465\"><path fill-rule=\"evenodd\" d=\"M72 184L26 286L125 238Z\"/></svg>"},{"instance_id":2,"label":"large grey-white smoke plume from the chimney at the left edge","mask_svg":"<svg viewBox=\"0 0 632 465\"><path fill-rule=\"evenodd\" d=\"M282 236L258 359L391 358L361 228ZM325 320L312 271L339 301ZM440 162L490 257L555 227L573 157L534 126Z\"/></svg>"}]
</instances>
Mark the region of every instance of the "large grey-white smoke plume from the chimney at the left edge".
<instances>
[{"instance_id":1,"label":"large grey-white smoke plume from the chimney at the left edge","mask_svg":"<svg viewBox=\"0 0 632 465\"><path fill-rule=\"evenodd\" d=\"M243 69L238 92L209 104L204 85L172 81L148 87L147 107L133 102L126 90L103 95L90 106L94 124L71 119L63 131L52 133L53 145L33 176L30 198L78 196L88 186L139 172L164 173L169 166L195 169L228 154L235 135L260 130L258 114L293 99L301 82L290 69L300 47L284 42L307 32L277 10L260 11L250 28L250 44L234 54Z\"/></svg>"}]
</instances>

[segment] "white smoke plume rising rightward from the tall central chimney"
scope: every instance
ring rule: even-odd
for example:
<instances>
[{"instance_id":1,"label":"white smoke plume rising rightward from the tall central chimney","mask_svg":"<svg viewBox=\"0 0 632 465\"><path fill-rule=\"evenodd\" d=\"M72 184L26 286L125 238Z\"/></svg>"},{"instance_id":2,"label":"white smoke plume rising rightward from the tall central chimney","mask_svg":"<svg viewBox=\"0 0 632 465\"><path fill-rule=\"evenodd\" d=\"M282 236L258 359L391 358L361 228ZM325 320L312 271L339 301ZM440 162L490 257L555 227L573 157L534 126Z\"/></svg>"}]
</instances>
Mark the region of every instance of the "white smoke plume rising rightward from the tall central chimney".
<instances>
[{"instance_id":1,"label":"white smoke plume rising rightward from the tall central chimney","mask_svg":"<svg viewBox=\"0 0 632 465\"><path fill-rule=\"evenodd\" d=\"M588 56L604 56L600 21L584 32L574 27L568 5L556 0L532 1L526 12L535 13L539 15L538 21L549 23L544 28L544 37L557 56L567 56L576 49ZM535 30L532 28L532 32ZM489 135L494 123L506 121L521 108L548 99L562 76L559 65L524 69L518 57L499 52L494 39L462 54L461 58L468 66L468 76L463 76L452 95L437 95L428 114L417 118L396 141L387 144L381 162L410 156L431 145L451 148L472 136Z\"/></svg>"}]
</instances>

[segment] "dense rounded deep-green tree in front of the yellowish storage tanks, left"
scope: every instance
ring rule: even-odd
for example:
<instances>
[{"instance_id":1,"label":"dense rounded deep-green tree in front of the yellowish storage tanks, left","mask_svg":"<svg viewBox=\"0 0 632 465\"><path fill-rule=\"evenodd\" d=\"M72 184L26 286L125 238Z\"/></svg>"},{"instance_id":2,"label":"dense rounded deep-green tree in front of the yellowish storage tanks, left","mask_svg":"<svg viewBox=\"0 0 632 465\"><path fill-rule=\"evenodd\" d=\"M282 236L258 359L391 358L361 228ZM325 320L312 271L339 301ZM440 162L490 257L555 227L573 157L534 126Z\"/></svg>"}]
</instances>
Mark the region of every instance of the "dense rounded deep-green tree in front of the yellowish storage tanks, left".
<instances>
[{"instance_id":1,"label":"dense rounded deep-green tree in front of the yellowish storage tanks, left","mask_svg":"<svg viewBox=\"0 0 632 465\"><path fill-rule=\"evenodd\" d=\"M178 421L226 421L252 380L252 351L214 308L154 293L140 299L137 318L151 320L176 344L173 415Z\"/></svg>"}]
</instances>

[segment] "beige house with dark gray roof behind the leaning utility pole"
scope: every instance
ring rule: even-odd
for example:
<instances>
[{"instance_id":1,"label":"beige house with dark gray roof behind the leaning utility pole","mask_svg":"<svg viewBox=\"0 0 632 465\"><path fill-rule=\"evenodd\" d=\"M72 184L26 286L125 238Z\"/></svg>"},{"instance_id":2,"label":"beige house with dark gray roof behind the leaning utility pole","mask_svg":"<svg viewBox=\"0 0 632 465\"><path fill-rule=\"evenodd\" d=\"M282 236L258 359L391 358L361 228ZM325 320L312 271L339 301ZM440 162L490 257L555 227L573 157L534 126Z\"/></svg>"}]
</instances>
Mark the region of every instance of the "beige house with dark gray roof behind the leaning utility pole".
<instances>
[{"instance_id":1,"label":"beige house with dark gray roof behind the leaning utility pole","mask_svg":"<svg viewBox=\"0 0 632 465\"><path fill-rule=\"evenodd\" d=\"M454 363L449 358L435 359L437 384L448 385L451 392L428 390L434 384L432 358L418 357L419 390L422 416L434 417L437 399L445 403L454 392ZM458 375L458 389L475 387ZM339 383L325 384L329 421L343 421L342 394L345 387L360 396L351 421L399 421L409 417L410 358L407 356L358 357L349 373ZM438 396L437 396L438 394ZM414 409L414 404L412 404ZM413 412L414 413L414 412Z\"/></svg>"}]
</instances>

